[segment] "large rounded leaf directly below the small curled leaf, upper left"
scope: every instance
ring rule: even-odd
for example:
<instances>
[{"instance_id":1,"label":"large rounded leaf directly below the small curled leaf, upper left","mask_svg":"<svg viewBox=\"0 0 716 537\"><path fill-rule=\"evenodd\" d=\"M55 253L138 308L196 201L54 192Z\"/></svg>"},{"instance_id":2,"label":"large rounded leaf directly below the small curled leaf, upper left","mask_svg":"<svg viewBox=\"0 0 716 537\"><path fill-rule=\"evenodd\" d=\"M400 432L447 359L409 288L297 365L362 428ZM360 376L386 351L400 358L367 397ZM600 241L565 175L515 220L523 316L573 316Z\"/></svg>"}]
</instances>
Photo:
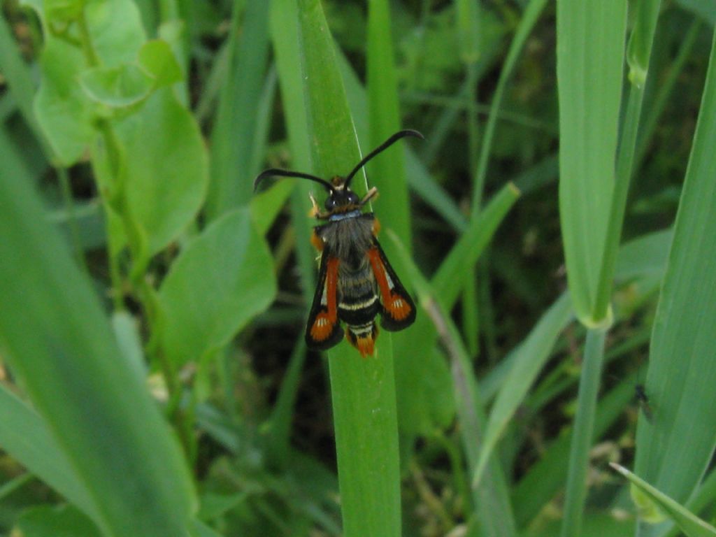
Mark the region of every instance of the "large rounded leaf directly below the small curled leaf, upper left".
<instances>
[{"instance_id":1,"label":"large rounded leaf directly below the small curled leaf, upper left","mask_svg":"<svg viewBox=\"0 0 716 537\"><path fill-rule=\"evenodd\" d=\"M117 123L125 155L127 211L147 236L147 256L185 230L204 200L208 155L191 113L170 88Z\"/></svg>"}]
</instances>

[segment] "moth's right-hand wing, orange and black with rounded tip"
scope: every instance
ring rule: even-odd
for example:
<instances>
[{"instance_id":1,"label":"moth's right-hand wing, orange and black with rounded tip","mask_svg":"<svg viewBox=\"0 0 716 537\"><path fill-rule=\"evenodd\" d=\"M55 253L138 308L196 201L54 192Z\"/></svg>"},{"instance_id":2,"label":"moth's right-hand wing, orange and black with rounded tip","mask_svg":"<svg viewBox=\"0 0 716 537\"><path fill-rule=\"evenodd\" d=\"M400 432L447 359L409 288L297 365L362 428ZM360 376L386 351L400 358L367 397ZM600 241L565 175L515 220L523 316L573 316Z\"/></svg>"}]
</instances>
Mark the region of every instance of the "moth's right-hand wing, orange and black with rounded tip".
<instances>
[{"instance_id":1,"label":"moth's right-hand wing, orange and black with rounded tip","mask_svg":"<svg viewBox=\"0 0 716 537\"><path fill-rule=\"evenodd\" d=\"M372 266L381 298L380 326L389 332L397 332L415 321L415 302L400 283L376 238L373 238L373 248L377 253L377 259L372 261Z\"/></svg>"}]
</instances>

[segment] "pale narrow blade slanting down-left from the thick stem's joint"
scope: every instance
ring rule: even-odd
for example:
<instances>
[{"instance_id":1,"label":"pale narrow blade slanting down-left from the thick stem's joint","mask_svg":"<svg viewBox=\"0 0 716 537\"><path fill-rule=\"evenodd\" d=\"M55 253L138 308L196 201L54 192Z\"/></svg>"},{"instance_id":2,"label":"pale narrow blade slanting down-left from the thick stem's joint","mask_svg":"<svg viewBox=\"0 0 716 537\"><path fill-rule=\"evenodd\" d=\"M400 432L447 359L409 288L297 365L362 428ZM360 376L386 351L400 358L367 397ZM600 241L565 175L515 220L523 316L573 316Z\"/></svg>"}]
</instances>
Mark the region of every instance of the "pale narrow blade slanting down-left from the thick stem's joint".
<instances>
[{"instance_id":1,"label":"pale narrow blade slanting down-left from the thick stem's joint","mask_svg":"<svg viewBox=\"0 0 716 537\"><path fill-rule=\"evenodd\" d=\"M473 475L473 482L480 480L485 464L493 453L500 435L512 419L515 411L523 402L527 392L537 379L559 334L573 317L569 294L563 294L543 315L530 335L516 349L511 371L498 393L490 420L485 427L483 448Z\"/></svg>"}]
</instances>

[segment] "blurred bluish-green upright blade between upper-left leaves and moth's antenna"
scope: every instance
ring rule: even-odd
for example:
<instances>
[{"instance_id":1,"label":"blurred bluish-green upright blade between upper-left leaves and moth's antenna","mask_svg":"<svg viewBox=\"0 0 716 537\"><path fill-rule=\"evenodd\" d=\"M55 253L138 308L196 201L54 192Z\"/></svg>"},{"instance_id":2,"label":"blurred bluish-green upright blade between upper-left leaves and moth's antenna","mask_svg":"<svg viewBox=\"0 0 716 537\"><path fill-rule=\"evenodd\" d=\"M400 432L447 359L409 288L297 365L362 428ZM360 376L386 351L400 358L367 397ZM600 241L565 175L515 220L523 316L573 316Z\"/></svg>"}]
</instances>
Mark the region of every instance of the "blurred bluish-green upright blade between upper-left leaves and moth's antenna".
<instances>
[{"instance_id":1,"label":"blurred bluish-green upright blade between upper-left leaves and moth's antenna","mask_svg":"<svg viewBox=\"0 0 716 537\"><path fill-rule=\"evenodd\" d=\"M254 111L261 102L269 54L270 5L270 2L248 2L241 19L241 2L234 4L229 67L211 133L211 188L207 200L211 218L251 199L255 175L255 170L251 170L253 147L259 143Z\"/></svg>"}]
</instances>

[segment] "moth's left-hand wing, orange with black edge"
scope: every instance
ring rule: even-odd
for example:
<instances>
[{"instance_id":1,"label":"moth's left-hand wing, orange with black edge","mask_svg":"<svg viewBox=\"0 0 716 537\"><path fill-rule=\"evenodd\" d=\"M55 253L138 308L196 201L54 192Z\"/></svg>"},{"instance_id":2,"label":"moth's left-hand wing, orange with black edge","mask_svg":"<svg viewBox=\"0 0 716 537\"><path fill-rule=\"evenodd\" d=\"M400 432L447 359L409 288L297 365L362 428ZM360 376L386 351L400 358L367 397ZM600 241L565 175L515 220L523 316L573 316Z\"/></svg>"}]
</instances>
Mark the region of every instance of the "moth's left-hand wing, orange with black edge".
<instances>
[{"instance_id":1,"label":"moth's left-hand wing, orange with black edge","mask_svg":"<svg viewBox=\"0 0 716 537\"><path fill-rule=\"evenodd\" d=\"M306 323L306 345L309 349L324 351L343 339L337 313L338 263L338 258L324 248L316 292Z\"/></svg>"}]
</instances>

